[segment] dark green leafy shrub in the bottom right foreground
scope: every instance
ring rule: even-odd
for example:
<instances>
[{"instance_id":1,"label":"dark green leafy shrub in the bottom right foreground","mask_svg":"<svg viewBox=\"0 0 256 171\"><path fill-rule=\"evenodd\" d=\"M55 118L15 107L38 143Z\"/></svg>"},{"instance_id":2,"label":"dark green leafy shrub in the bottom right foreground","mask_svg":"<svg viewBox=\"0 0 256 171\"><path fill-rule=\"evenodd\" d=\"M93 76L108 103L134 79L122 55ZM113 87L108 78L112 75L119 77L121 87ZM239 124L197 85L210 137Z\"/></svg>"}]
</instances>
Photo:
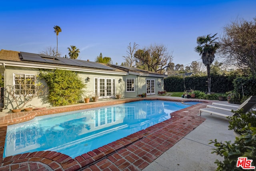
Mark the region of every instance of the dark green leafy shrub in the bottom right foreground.
<instances>
[{"instance_id":1,"label":"dark green leafy shrub in the bottom right foreground","mask_svg":"<svg viewBox=\"0 0 256 171\"><path fill-rule=\"evenodd\" d=\"M230 120L228 128L241 134L236 137L234 143L231 141L222 143L217 139L210 140L209 144L214 143L216 147L212 153L224 157L224 161L216 160L214 162L218 165L216 171L242 171L241 167L236 167L238 157L247 157L252 160L251 166L256 165L256 111L244 113L241 109L236 113L237 116L227 117Z\"/></svg>"}]
</instances>

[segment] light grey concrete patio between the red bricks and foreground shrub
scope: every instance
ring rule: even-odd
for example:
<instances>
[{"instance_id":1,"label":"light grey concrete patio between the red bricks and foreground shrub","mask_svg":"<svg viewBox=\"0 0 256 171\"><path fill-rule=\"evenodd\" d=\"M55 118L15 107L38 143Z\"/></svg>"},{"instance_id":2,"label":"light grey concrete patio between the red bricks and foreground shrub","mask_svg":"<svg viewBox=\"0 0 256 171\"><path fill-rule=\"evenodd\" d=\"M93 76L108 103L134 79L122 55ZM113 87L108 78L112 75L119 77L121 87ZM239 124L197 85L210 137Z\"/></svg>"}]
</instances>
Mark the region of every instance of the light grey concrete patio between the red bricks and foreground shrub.
<instances>
[{"instance_id":1,"label":"light grey concrete patio between the red bricks and foreground shrub","mask_svg":"<svg viewBox=\"0 0 256 171\"><path fill-rule=\"evenodd\" d=\"M228 119L218 115L202 113L206 118L201 125L196 127L172 148L154 160L143 171L214 171L217 168L215 160L223 161L224 158L211 153L213 144L208 144L210 139L234 142L235 135L228 130Z\"/></svg>"}]
</instances>

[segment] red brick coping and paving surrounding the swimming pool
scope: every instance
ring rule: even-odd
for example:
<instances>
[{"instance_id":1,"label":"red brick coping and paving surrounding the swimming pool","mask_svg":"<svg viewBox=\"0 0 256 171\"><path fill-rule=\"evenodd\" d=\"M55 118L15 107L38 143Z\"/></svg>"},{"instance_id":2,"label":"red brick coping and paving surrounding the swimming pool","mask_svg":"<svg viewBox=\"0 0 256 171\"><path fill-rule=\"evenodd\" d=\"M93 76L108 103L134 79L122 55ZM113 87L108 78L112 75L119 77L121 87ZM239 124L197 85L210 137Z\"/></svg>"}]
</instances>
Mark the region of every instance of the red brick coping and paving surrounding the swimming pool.
<instances>
[{"instance_id":1,"label":"red brick coping and paving surrounding the swimming pool","mask_svg":"<svg viewBox=\"0 0 256 171\"><path fill-rule=\"evenodd\" d=\"M33 119L35 116L49 115L67 111L89 109L107 105L128 103L139 100L165 100L165 101L200 101L199 103L171 113L171 118L128 135L117 141L89 151L88 153L72 159L68 155L55 151L37 151L23 153L3 158L4 143L7 125L20 123ZM41 109L28 112L9 113L0 117L0 170L142 170L152 161L170 149L190 131L194 130L205 119L198 116L199 109L210 103L197 99L171 99L171 98L135 98L112 101L100 101L86 105L73 105L52 109Z\"/></svg>"}]
</instances>

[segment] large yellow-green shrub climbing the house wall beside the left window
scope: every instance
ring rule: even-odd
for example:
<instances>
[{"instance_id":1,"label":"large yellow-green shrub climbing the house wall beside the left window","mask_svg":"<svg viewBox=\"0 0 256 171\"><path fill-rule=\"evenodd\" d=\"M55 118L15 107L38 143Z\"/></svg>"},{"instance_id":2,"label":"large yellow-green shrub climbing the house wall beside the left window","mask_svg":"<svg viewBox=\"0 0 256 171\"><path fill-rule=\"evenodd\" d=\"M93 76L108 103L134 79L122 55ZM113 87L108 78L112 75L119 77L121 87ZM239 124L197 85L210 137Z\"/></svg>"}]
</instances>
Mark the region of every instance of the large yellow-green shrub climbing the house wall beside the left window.
<instances>
[{"instance_id":1,"label":"large yellow-green shrub climbing the house wall beside the left window","mask_svg":"<svg viewBox=\"0 0 256 171\"><path fill-rule=\"evenodd\" d=\"M85 84L77 73L70 70L40 71L40 79L44 79L49 88L49 101L53 106L78 103L82 98Z\"/></svg>"}]
</instances>

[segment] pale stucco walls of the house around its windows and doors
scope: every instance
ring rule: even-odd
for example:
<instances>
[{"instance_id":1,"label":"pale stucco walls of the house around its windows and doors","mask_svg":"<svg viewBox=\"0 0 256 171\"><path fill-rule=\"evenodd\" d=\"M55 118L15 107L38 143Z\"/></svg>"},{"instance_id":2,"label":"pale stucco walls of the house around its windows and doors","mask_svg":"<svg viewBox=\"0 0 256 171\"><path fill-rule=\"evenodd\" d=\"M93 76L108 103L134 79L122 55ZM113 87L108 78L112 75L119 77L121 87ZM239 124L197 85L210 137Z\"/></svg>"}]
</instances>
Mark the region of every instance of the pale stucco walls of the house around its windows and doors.
<instances>
[{"instance_id":1,"label":"pale stucco walls of the house around its windows and doors","mask_svg":"<svg viewBox=\"0 0 256 171\"><path fill-rule=\"evenodd\" d=\"M25 68L25 67L14 67L14 66L6 66L6 75L5 75L5 87L7 85L14 85L14 74L39 74L38 68ZM117 74L104 74L104 73L89 73L89 72L80 72L78 74L82 81L86 84L86 91L87 92L94 92L94 78L110 78L115 80L115 89L116 94L121 93L122 97L136 97L138 94L146 93L146 80L147 79L153 79L155 81L155 94L158 93L158 91L163 91L163 81L161 81L161 78L156 77L146 77L146 76L137 76L137 75L117 75ZM90 81L87 82L86 78L89 77ZM126 91L126 78L134 78L134 92L127 92ZM119 80L122 80L119 82ZM44 80L38 80L42 82L46 87L46 83ZM161 85L159 85L161 83ZM8 87L6 87L8 88ZM114 97L114 96L113 96ZM82 97L81 101L85 98ZM29 103L27 103L26 106L33 105L36 107L42 107L42 106L51 106L51 104L48 102L47 94L43 95L41 97L36 97ZM5 91L5 106L6 109L13 109L16 107L15 101L10 97L10 95ZM25 107L26 107L25 106Z\"/></svg>"}]
</instances>

